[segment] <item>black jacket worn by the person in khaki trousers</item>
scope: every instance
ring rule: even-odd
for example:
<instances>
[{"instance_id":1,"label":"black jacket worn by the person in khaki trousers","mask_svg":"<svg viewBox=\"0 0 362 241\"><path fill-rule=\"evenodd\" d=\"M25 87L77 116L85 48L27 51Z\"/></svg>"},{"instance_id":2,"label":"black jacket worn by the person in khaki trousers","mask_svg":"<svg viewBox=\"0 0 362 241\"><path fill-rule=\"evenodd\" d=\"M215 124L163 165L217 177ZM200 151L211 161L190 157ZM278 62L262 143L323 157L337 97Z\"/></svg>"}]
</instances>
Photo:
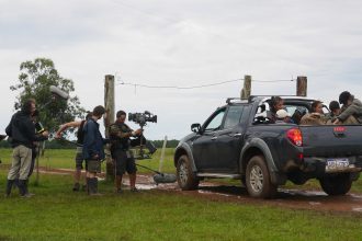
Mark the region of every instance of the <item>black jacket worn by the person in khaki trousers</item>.
<instances>
[{"instance_id":1,"label":"black jacket worn by the person in khaki trousers","mask_svg":"<svg viewBox=\"0 0 362 241\"><path fill-rule=\"evenodd\" d=\"M47 138L35 134L35 126L29 114L16 112L5 129L7 135L11 137L12 147L23 145L33 148L34 141L43 141Z\"/></svg>"}]
</instances>

